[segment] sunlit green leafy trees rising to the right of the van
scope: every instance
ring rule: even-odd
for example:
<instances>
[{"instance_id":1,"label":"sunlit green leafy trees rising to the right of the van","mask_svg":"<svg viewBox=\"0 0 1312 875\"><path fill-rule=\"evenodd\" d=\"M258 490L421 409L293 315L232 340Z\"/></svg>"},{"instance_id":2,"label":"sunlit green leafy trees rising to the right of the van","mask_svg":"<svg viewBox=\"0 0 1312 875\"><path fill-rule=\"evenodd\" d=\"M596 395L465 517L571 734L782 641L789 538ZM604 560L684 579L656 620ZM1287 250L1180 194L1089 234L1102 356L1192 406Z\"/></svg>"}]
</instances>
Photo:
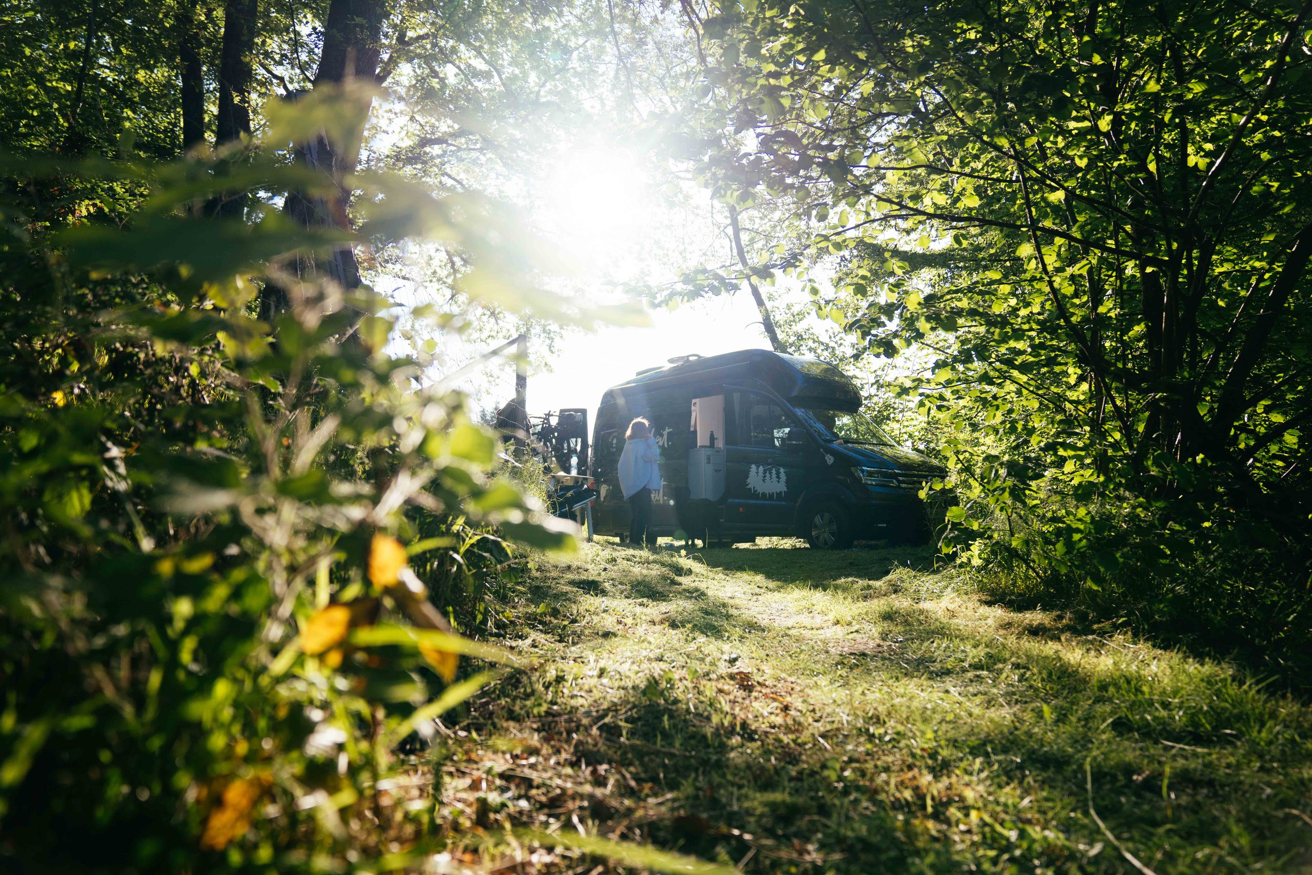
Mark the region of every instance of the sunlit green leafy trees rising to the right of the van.
<instances>
[{"instance_id":1,"label":"sunlit green leafy trees rising to the right of the van","mask_svg":"<svg viewBox=\"0 0 1312 875\"><path fill-rule=\"evenodd\" d=\"M1115 502L1164 565L1225 544L1305 568L1308 12L761 0L699 22L702 174L803 232L752 272L832 270L817 308L867 354L935 353L904 391L955 430L958 523L1004 521L976 554L1033 563L1038 538L1106 584L1131 555L1094 512Z\"/></svg>"}]
</instances>

